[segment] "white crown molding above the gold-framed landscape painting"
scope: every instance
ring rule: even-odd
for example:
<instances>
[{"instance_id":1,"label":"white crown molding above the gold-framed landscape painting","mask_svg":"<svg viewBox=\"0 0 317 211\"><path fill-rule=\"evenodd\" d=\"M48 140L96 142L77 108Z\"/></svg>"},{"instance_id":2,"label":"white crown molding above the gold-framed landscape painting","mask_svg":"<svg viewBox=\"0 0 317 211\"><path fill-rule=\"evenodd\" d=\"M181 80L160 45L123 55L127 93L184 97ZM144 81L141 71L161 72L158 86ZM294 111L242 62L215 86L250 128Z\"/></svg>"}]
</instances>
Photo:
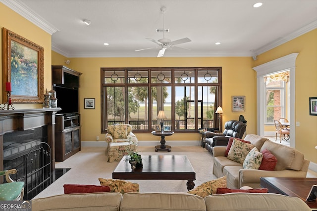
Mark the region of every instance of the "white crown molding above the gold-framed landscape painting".
<instances>
[{"instance_id":1,"label":"white crown molding above the gold-framed landscape painting","mask_svg":"<svg viewBox=\"0 0 317 211\"><path fill-rule=\"evenodd\" d=\"M56 27L34 12L30 7L25 5L21 0L0 0L1 3L20 14L22 17L31 21L50 35L59 31Z\"/></svg>"}]
</instances>

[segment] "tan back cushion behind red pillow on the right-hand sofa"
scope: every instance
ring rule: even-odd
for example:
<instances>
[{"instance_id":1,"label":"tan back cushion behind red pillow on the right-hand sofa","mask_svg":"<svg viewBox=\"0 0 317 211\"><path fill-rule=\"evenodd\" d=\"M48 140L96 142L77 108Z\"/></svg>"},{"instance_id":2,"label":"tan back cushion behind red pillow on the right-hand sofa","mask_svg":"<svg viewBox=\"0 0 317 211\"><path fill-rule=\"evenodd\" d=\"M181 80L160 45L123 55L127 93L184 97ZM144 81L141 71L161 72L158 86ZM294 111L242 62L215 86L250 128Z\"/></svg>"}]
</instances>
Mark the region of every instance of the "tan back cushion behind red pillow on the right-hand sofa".
<instances>
[{"instance_id":1,"label":"tan back cushion behind red pillow on the right-hand sofa","mask_svg":"<svg viewBox=\"0 0 317 211\"><path fill-rule=\"evenodd\" d=\"M272 141L265 141L260 151L263 149L269 150L276 157L274 170L302 169L304 155L296 149Z\"/></svg>"}]
</instances>

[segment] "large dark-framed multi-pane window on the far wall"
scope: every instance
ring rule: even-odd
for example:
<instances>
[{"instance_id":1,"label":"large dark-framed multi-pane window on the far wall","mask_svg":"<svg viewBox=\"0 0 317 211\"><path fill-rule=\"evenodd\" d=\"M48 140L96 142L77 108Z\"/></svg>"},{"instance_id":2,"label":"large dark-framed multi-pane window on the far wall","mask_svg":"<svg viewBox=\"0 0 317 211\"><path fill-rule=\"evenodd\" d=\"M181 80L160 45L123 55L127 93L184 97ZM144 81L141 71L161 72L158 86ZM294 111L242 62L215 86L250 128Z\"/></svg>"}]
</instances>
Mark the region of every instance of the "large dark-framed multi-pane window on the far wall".
<instances>
[{"instance_id":1,"label":"large dark-framed multi-pane window on the far wall","mask_svg":"<svg viewBox=\"0 0 317 211\"><path fill-rule=\"evenodd\" d=\"M151 131L218 127L214 107L221 105L221 68L101 68L102 132L113 124Z\"/></svg>"}]
</instances>

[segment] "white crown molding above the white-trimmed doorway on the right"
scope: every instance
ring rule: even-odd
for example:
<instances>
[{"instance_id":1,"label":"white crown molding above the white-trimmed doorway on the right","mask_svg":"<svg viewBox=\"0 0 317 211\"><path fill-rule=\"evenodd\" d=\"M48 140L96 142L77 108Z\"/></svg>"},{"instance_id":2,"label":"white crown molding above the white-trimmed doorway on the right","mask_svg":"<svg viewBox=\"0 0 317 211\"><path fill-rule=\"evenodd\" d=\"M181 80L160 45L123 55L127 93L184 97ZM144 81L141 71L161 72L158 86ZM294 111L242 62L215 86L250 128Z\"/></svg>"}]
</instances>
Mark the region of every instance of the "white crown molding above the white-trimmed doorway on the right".
<instances>
[{"instance_id":1,"label":"white crown molding above the white-trimmed doorway on the right","mask_svg":"<svg viewBox=\"0 0 317 211\"><path fill-rule=\"evenodd\" d=\"M274 47L277 47L281 44L284 44L285 42L291 41L291 40L293 40L301 35L304 35L310 31L316 29L316 28L317 28L317 20L315 20L312 23L296 30L295 32L290 33L289 35L286 35L283 38L279 38L273 42L267 43L266 45L254 50L254 53L256 55L260 55L261 53L264 53L270 49L273 49Z\"/></svg>"}]
</instances>

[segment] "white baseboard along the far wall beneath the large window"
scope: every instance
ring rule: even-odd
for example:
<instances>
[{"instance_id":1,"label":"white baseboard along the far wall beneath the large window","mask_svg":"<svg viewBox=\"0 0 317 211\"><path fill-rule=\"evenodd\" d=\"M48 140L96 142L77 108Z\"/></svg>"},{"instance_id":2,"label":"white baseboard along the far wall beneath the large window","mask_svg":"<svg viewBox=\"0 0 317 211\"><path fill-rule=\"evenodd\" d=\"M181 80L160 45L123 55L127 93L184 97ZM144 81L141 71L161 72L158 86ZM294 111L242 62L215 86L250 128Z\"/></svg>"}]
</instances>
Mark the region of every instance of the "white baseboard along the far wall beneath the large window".
<instances>
[{"instance_id":1,"label":"white baseboard along the far wall beneath the large window","mask_svg":"<svg viewBox=\"0 0 317 211\"><path fill-rule=\"evenodd\" d=\"M159 141L139 141L138 146L156 146L160 145ZM169 146L201 146L201 141L167 141L165 145ZM82 141L83 147L106 147L106 141Z\"/></svg>"}]
</instances>

